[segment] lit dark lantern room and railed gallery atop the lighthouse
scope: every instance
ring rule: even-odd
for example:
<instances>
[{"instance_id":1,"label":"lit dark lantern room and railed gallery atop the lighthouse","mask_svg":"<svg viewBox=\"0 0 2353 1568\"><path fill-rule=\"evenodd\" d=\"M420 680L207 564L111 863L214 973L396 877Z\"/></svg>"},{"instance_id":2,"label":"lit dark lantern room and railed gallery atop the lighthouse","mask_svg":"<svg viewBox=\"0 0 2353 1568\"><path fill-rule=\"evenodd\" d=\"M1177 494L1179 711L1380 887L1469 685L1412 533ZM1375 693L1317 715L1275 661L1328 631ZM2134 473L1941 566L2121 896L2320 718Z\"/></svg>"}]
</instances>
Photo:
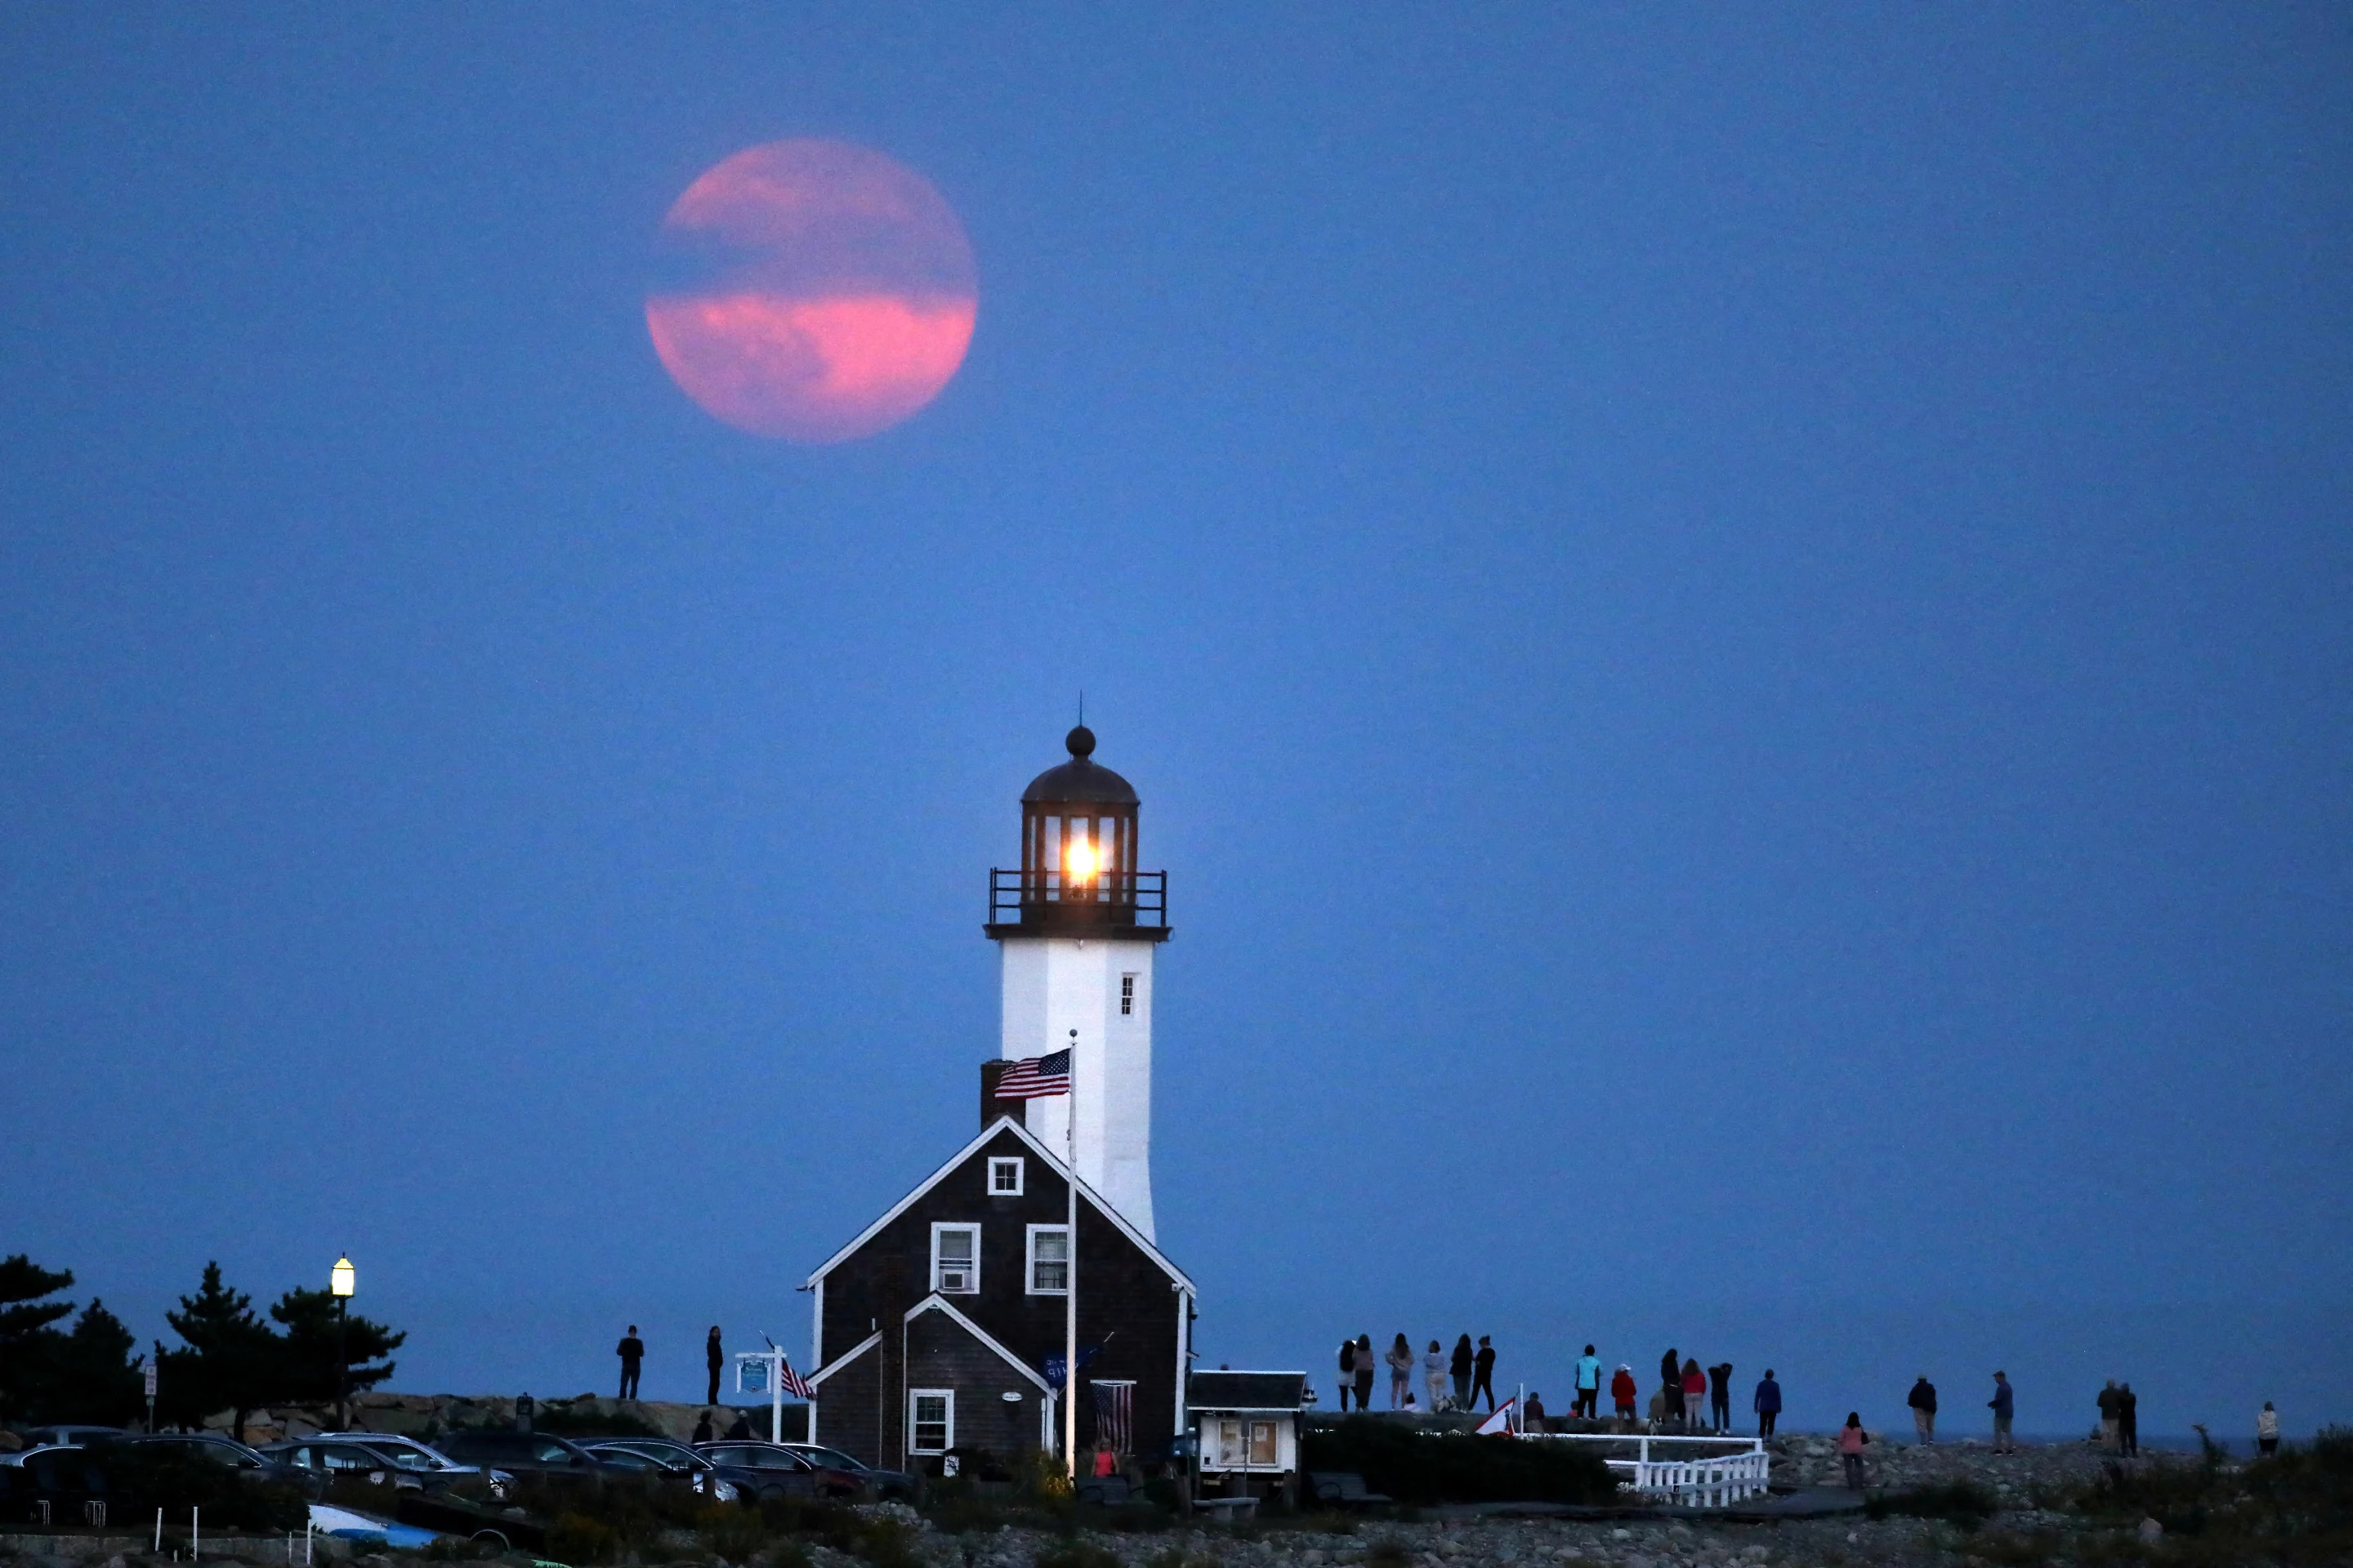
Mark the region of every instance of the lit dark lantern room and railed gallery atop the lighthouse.
<instances>
[{"instance_id":1,"label":"lit dark lantern room and railed gallery atop the lighthouse","mask_svg":"<svg viewBox=\"0 0 2353 1568\"><path fill-rule=\"evenodd\" d=\"M1165 940L1167 872L1136 870L1136 790L1094 762L1080 724L1071 759L1021 792L1021 867L988 872L988 936Z\"/></svg>"}]
</instances>

